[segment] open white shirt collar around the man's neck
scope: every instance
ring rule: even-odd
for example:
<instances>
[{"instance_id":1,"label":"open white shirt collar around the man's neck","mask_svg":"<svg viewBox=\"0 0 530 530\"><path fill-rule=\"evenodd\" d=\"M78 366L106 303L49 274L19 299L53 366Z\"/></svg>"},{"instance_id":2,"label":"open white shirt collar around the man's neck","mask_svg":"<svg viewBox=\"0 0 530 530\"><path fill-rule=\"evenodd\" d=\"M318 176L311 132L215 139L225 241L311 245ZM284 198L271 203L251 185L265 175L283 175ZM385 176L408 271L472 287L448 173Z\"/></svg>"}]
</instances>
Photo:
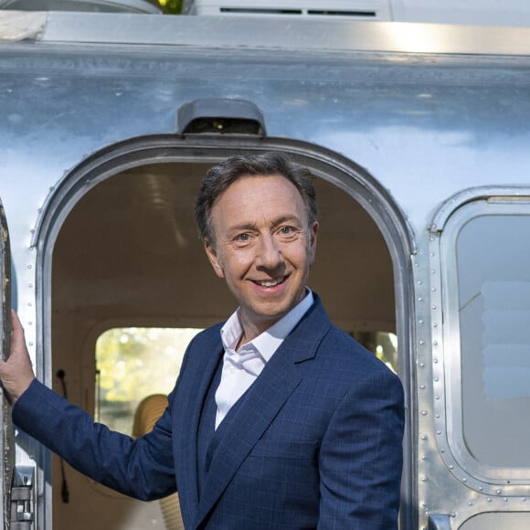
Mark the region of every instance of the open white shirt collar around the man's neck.
<instances>
[{"instance_id":1,"label":"open white shirt collar around the man's neck","mask_svg":"<svg viewBox=\"0 0 530 530\"><path fill-rule=\"evenodd\" d=\"M306 295L301 302L298 302L292 310L281 317L281 319L270 326L262 334L255 339L241 345L239 353L242 354L249 350L258 350L265 362L270 360L270 357L280 347L285 337L292 332L294 326L302 320L302 316L313 305L313 292L309 287L306 287ZM243 333L243 328L239 322L240 308L230 315L228 321L221 328L221 340L226 351L234 350L238 345L238 340Z\"/></svg>"}]
</instances>

